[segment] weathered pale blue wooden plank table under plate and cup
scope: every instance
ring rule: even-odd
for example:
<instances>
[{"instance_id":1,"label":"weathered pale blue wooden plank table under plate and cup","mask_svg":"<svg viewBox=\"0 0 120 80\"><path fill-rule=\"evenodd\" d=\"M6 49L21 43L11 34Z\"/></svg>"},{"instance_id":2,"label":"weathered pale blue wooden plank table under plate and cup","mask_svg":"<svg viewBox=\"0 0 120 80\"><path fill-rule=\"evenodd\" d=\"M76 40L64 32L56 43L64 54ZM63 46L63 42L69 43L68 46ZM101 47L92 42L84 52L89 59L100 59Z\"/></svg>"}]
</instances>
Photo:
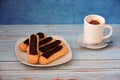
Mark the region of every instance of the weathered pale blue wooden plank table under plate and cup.
<instances>
[{"instance_id":1,"label":"weathered pale blue wooden plank table under plate and cup","mask_svg":"<svg viewBox=\"0 0 120 80\"><path fill-rule=\"evenodd\" d=\"M112 25L112 24L111 24ZM0 80L120 80L120 25L108 47L86 49L76 44L83 25L0 25ZM72 49L72 60L58 66L38 68L20 63L15 43L31 33L64 37Z\"/></svg>"}]
</instances>

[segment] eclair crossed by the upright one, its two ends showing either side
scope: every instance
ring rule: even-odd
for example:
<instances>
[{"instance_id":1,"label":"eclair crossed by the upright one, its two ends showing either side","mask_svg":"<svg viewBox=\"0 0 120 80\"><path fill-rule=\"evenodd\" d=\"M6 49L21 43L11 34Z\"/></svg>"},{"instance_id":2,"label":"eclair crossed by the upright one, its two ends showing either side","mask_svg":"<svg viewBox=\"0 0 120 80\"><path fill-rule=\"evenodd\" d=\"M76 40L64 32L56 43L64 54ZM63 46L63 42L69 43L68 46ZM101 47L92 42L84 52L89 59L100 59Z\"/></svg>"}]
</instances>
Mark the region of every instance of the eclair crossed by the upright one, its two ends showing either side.
<instances>
[{"instance_id":1,"label":"eclair crossed by the upright one, its two ends showing either side","mask_svg":"<svg viewBox=\"0 0 120 80\"><path fill-rule=\"evenodd\" d=\"M46 34L42 33L42 32L39 32L37 33L36 35L38 35L39 37L39 40L42 40L46 37ZM19 44L19 49L23 52L26 52L27 51L27 48L29 46L29 38L27 38L25 41L21 42Z\"/></svg>"}]
</instances>

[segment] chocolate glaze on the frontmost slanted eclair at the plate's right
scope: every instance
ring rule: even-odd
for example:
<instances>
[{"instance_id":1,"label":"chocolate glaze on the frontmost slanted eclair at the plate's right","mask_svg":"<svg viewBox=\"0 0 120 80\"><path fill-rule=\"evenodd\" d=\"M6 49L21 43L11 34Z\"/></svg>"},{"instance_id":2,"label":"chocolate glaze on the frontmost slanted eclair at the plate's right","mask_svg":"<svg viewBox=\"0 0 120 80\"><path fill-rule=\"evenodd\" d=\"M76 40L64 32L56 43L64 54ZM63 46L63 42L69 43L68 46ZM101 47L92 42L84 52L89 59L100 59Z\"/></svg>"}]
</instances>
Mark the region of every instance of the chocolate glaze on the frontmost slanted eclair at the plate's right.
<instances>
[{"instance_id":1,"label":"chocolate glaze on the frontmost slanted eclair at the plate's right","mask_svg":"<svg viewBox=\"0 0 120 80\"><path fill-rule=\"evenodd\" d=\"M46 51L45 53L42 54L42 56L45 58L49 58L50 56L52 56L56 52L60 51L62 48L63 48L63 46L57 46L51 50Z\"/></svg>"}]
</instances>

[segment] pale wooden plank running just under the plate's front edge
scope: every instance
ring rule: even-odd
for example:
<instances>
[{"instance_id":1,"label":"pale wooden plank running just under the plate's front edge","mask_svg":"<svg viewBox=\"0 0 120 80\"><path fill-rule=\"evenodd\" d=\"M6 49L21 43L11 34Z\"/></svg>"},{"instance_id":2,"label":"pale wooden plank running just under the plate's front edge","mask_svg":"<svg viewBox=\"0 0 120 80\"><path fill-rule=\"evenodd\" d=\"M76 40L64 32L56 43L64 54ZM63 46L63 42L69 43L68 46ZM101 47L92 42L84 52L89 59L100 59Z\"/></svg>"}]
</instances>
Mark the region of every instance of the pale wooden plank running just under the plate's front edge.
<instances>
[{"instance_id":1,"label":"pale wooden plank running just under the plate's front edge","mask_svg":"<svg viewBox=\"0 0 120 80\"><path fill-rule=\"evenodd\" d=\"M120 60L71 60L58 66L37 68L21 64L20 62L0 62L1 71L27 70L82 70L82 69L120 69Z\"/></svg>"}]
</instances>

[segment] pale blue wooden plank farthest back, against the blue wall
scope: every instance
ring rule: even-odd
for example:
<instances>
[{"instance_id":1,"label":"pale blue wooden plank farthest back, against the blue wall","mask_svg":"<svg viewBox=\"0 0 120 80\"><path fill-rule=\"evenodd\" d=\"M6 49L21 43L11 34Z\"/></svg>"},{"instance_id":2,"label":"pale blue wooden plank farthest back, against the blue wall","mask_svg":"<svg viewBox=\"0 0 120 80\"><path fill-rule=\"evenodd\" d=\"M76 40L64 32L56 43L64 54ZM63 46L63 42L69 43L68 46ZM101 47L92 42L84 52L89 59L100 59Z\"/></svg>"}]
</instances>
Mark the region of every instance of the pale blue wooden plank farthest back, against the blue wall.
<instances>
[{"instance_id":1,"label":"pale blue wooden plank farthest back, against the blue wall","mask_svg":"<svg viewBox=\"0 0 120 80\"><path fill-rule=\"evenodd\" d=\"M119 28L120 25L112 25L113 28L117 31L119 31L117 28ZM77 25L0 25L0 32L1 33L8 33L11 32L17 32L21 33L24 32L26 34L33 32L52 32L56 33L59 32L75 32L75 33L82 33L83 32L83 25L77 24ZM66 34L68 34L66 33ZM22 34L22 33L21 33Z\"/></svg>"}]
</instances>

